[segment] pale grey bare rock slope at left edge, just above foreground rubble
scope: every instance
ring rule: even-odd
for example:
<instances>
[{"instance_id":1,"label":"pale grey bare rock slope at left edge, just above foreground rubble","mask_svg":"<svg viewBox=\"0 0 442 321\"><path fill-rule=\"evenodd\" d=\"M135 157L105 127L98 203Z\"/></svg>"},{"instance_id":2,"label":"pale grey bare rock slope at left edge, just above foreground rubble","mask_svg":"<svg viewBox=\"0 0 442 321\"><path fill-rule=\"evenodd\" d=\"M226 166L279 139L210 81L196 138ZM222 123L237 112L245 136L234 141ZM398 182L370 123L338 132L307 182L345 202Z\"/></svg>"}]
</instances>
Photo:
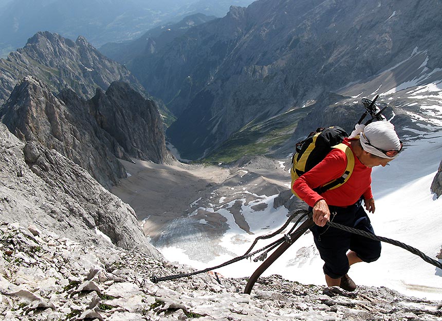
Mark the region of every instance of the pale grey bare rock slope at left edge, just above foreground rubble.
<instances>
[{"instance_id":1,"label":"pale grey bare rock slope at left edge, just above foreground rubble","mask_svg":"<svg viewBox=\"0 0 442 321\"><path fill-rule=\"evenodd\" d=\"M109 193L83 168L37 141L26 144L0 123L2 220L50 228L86 244L158 252L140 230L134 210Z\"/></svg>"}]
</instances>

